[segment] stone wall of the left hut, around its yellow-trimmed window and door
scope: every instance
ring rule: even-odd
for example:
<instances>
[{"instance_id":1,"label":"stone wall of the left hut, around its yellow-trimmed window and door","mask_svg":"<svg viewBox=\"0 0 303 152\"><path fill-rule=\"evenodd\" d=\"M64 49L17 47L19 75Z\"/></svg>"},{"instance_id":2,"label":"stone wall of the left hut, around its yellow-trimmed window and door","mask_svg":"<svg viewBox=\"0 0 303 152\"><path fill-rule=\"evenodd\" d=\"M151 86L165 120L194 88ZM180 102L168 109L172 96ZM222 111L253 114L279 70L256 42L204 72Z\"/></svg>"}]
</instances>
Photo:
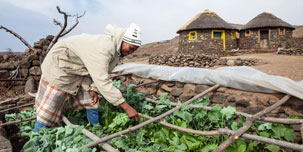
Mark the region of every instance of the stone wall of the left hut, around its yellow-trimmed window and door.
<instances>
[{"instance_id":1,"label":"stone wall of the left hut, around its yellow-trimmed window and door","mask_svg":"<svg viewBox=\"0 0 303 152\"><path fill-rule=\"evenodd\" d=\"M237 41L231 38L231 30L225 30L226 50L237 48ZM188 40L188 31L183 31L179 36L179 52L188 54L217 54L225 55L223 40L212 39L212 30L197 30L197 40Z\"/></svg>"}]
</instances>

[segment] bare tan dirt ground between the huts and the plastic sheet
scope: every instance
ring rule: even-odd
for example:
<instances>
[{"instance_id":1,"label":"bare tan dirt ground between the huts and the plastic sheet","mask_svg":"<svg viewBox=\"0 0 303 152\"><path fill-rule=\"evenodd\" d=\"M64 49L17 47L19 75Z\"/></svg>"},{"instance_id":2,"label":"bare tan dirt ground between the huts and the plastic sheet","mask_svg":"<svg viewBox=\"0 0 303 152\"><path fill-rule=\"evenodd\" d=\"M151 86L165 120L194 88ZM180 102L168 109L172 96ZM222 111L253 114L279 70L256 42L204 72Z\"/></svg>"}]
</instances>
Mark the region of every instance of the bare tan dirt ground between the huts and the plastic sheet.
<instances>
[{"instance_id":1,"label":"bare tan dirt ground between the huts and the plastic sheet","mask_svg":"<svg viewBox=\"0 0 303 152\"><path fill-rule=\"evenodd\" d=\"M287 77L295 81L303 80L303 56L277 55L276 53L244 54L226 58L256 58L261 60L260 65L251 66L264 73ZM135 62L148 64L148 57L134 57L124 60L124 63ZM220 66L215 66L218 68Z\"/></svg>"}]
</instances>

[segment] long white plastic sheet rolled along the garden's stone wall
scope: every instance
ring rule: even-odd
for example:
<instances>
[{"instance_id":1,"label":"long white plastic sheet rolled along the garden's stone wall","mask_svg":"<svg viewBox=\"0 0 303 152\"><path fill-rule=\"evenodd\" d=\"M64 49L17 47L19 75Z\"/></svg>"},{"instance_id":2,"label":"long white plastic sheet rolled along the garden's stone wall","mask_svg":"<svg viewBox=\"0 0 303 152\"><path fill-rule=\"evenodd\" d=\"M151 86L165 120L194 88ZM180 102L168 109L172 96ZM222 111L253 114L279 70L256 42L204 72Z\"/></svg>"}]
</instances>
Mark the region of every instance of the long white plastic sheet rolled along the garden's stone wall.
<instances>
[{"instance_id":1,"label":"long white plastic sheet rolled along the garden's stone wall","mask_svg":"<svg viewBox=\"0 0 303 152\"><path fill-rule=\"evenodd\" d=\"M303 82L273 76L246 66L222 67L214 70L192 67L170 67L128 63L117 66L114 72L185 83L220 84L252 92L283 92L303 99Z\"/></svg>"}]
</instances>

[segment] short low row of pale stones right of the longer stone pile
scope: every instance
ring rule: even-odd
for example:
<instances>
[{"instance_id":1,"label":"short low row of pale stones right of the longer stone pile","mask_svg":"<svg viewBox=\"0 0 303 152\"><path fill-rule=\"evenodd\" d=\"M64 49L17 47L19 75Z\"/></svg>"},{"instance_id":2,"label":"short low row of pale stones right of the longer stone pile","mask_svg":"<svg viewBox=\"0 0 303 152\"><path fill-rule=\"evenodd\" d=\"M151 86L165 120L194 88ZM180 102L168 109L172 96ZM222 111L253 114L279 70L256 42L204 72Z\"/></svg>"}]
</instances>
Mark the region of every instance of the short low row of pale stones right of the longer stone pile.
<instances>
[{"instance_id":1,"label":"short low row of pale stones right of the longer stone pile","mask_svg":"<svg viewBox=\"0 0 303 152\"><path fill-rule=\"evenodd\" d=\"M254 66L260 63L259 59L255 58L236 58L236 59L227 59L220 58L218 64L224 66Z\"/></svg>"}]
</instances>

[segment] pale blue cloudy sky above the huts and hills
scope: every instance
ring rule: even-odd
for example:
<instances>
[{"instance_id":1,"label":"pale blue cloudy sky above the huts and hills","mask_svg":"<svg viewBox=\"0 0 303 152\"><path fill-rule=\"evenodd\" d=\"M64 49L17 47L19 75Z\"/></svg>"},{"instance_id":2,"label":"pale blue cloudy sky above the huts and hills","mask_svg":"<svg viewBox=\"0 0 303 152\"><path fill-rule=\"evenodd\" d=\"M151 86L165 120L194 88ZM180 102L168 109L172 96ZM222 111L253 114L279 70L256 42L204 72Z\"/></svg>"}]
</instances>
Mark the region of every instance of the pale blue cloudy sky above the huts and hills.
<instances>
[{"instance_id":1,"label":"pale blue cloudy sky above the huts and hills","mask_svg":"<svg viewBox=\"0 0 303 152\"><path fill-rule=\"evenodd\" d=\"M258 14L272 13L292 25L303 25L303 0L0 0L0 25L21 35L29 44L47 35L56 35L63 15L86 14L66 37L81 33L103 34L107 24L142 29L143 44L170 40L176 31L205 9L229 23L246 24ZM68 26L75 23L69 19ZM26 46L12 34L0 29L0 52L23 52Z\"/></svg>"}]
</instances>

